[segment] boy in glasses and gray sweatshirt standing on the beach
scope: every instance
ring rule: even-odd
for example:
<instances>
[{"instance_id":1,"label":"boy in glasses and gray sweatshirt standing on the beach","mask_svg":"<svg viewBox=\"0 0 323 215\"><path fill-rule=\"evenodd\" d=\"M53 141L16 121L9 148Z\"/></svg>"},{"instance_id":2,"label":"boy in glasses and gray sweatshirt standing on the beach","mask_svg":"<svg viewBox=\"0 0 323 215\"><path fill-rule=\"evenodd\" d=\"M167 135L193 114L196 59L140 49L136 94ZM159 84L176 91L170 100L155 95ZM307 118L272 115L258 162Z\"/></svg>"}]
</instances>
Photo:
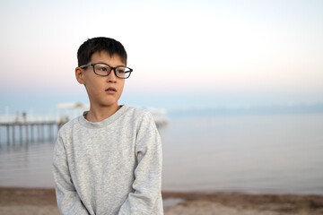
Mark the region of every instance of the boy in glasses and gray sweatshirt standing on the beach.
<instances>
[{"instance_id":1,"label":"boy in glasses and gray sweatshirt standing on the beach","mask_svg":"<svg viewBox=\"0 0 323 215\"><path fill-rule=\"evenodd\" d=\"M77 82L90 110L57 134L53 173L60 214L162 214L162 143L147 111L119 106L127 52L115 39L88 39Z\"/></svg>"}]
</instances>

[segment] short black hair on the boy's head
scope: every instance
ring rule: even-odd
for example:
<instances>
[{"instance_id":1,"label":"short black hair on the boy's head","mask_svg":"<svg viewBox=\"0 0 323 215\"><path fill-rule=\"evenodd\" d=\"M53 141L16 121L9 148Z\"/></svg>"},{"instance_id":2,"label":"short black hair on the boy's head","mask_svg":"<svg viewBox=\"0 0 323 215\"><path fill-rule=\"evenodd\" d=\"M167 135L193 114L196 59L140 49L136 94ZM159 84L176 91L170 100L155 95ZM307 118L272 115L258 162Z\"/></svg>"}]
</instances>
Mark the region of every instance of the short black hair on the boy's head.
<instances>
[{"instance_id":1,"label":"short black hair on the boy's head","mask_svg":"<svg viewBox=\"0 0 323 215\"><path fill-rule=\"evenodd\" d=\"M77 51L78 66L88 64L91 61L92 55L95 52L101 51L109 53L109 56L120 56L122 63L127 65L127 52L125 47L116 39L100 37L88 39L79 47Z\"/></svg>"}]
</instances>

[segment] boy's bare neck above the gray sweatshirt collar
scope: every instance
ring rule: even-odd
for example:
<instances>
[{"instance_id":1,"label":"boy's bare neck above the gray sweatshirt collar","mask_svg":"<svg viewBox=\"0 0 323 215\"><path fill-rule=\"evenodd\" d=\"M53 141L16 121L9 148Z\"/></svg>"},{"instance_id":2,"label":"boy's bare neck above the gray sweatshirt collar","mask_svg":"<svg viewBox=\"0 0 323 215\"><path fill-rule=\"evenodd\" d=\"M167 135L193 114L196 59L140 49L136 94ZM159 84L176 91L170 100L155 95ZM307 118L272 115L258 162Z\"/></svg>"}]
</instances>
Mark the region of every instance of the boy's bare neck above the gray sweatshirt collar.
<instances>
[{"instance_id":1,"label":"boy's bare neck above the gray sweatshirt collar","mask_svg":"<svg viewBox=\"0 0 323 215\"><path fill-rule=\"evenodd\" d=\"M92 123L100 122L109 116L112 116L118 111L120 107L118 104L109 107L93 107L90 106L90 110L85 116L85 119Z\"/></svg>"}]
</instances>

